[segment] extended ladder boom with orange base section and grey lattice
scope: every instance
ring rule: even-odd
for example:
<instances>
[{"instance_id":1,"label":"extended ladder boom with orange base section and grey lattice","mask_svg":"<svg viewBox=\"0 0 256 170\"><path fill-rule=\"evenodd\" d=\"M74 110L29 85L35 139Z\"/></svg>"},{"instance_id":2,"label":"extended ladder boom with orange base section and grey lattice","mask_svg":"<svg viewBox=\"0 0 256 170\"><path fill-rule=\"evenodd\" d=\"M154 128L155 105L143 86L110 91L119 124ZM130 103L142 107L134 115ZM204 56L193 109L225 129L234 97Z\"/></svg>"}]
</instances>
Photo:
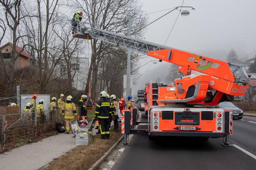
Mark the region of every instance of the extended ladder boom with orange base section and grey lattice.
<instances>
[{"instance_id":1,"label":"extended ladder boom with orange base section and grey lattice","mask_svg":"<svg viewBox=\"0 0 256 170\"><path fill-rule=\"evenodd\" d=\"M241 86L246 86L246 84L248 84L248 75L241 64L181 51L164 45L97 29L95 26L87 27L86 23L82 22L80 23L80 28L78 28L78 30L80 31L73 34L73 37L99 39L106 43L126 49L132 49L138 53L177 64L184 68L189 67L191 70L221 78L222 80L227 80L229 82L234 82Z\"/></svg>"}]
</instances>

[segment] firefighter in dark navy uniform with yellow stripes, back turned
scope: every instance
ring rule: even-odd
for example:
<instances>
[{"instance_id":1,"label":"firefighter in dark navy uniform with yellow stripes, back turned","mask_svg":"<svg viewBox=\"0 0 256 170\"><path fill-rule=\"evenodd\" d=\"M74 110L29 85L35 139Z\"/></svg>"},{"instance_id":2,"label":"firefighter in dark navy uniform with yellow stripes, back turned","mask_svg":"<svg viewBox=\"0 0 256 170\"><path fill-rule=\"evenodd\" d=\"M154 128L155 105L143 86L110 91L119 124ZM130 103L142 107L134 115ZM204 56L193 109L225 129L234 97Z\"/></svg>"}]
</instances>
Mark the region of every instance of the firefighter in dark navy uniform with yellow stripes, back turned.
<instances>
[{"instance_id":1,"label":"firefighter in dark navy uniform with yellow stripes, back turned","mask_svg":"<svg viewBox=\"0 0 256 170\"><path fill-rule=\"evenodd\" d=\"M95 109L95 119L99 121L100 124L100 134L101 139L109 139L109 115L112 113L110 102L106 98L107 93L105 91L100 92L100 101L96 104Z\"/></svg>"}]
</instances>

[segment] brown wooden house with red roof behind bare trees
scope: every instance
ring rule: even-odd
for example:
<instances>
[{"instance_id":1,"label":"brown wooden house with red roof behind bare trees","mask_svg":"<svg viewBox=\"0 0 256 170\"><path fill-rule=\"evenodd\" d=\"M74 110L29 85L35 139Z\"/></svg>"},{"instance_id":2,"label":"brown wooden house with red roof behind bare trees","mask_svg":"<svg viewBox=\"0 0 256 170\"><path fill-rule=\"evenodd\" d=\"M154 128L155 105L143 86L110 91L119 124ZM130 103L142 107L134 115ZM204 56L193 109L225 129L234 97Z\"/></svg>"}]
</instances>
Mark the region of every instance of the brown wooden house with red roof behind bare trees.
<instances>
[{"instance_id":1,"label":"brown wooden house with red roof behind bare trees","mask_svg":"<svg viewBox=\"0 0 256 170\"><path fill-rule=\"evenodd\" d=\"M7 43L0 48L3 54L4 60L6 61L10 60L12 47L13 47L12 43ZM22 51L22 48L16 46L17 54L20 53L20 51ZM17 60L15 61L14 69L16 70L16 69L24 68L26 66L31 66L30 59L31 57L28 55L28 53L26 53L26 51L23 50L18 56Z\"/></svg>"}]
</instances>

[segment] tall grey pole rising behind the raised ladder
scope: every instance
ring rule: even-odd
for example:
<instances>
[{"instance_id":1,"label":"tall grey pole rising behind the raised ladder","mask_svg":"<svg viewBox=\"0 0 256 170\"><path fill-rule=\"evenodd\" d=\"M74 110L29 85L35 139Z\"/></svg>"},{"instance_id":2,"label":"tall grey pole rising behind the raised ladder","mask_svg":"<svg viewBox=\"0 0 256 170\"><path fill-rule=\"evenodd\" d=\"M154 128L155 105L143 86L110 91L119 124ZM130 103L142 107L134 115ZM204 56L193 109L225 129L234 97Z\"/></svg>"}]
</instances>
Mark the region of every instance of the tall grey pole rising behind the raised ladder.
<instances>
[{"instance_id":1,"label":"tall grey pole rising behind the raised ladder","mask_svg":"<svg viewBox=\"0 0 256 170\"><path fill-rule=\"evenodd\" d=\"M128 23L128 36L131 36L131 20L132 16L129 15L129 23ZM126 96L131 95L131 87L130 87L130 73L131 73L131 49L127 50L127 70L126 70Z\"/></svg>"}]
</instances>

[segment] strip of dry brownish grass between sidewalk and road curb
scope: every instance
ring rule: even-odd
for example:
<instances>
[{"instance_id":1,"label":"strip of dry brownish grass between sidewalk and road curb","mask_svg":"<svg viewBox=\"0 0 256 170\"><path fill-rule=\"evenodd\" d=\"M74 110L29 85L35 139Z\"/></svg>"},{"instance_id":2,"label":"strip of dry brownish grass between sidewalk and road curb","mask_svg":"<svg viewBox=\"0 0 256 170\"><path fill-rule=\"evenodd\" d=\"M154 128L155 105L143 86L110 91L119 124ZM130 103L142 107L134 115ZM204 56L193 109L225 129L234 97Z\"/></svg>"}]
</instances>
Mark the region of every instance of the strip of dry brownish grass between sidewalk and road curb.
<instances>
[{"instance_id":1,"label":"strip of dry brownish grass between sidewalk and road curb","mask_svg":"<svg viewBox=\"0 0 256 170\"><path fill-rule=\"evenodd\" d=\"M120 127L119 127L120 129ZM86 170L106 153L122 136L121 132L111 132L109 140L100 139L100 135L93 138L88 146L78 146L60 158L54 160L43 170Z\"/></svg>"}]
</instances>

